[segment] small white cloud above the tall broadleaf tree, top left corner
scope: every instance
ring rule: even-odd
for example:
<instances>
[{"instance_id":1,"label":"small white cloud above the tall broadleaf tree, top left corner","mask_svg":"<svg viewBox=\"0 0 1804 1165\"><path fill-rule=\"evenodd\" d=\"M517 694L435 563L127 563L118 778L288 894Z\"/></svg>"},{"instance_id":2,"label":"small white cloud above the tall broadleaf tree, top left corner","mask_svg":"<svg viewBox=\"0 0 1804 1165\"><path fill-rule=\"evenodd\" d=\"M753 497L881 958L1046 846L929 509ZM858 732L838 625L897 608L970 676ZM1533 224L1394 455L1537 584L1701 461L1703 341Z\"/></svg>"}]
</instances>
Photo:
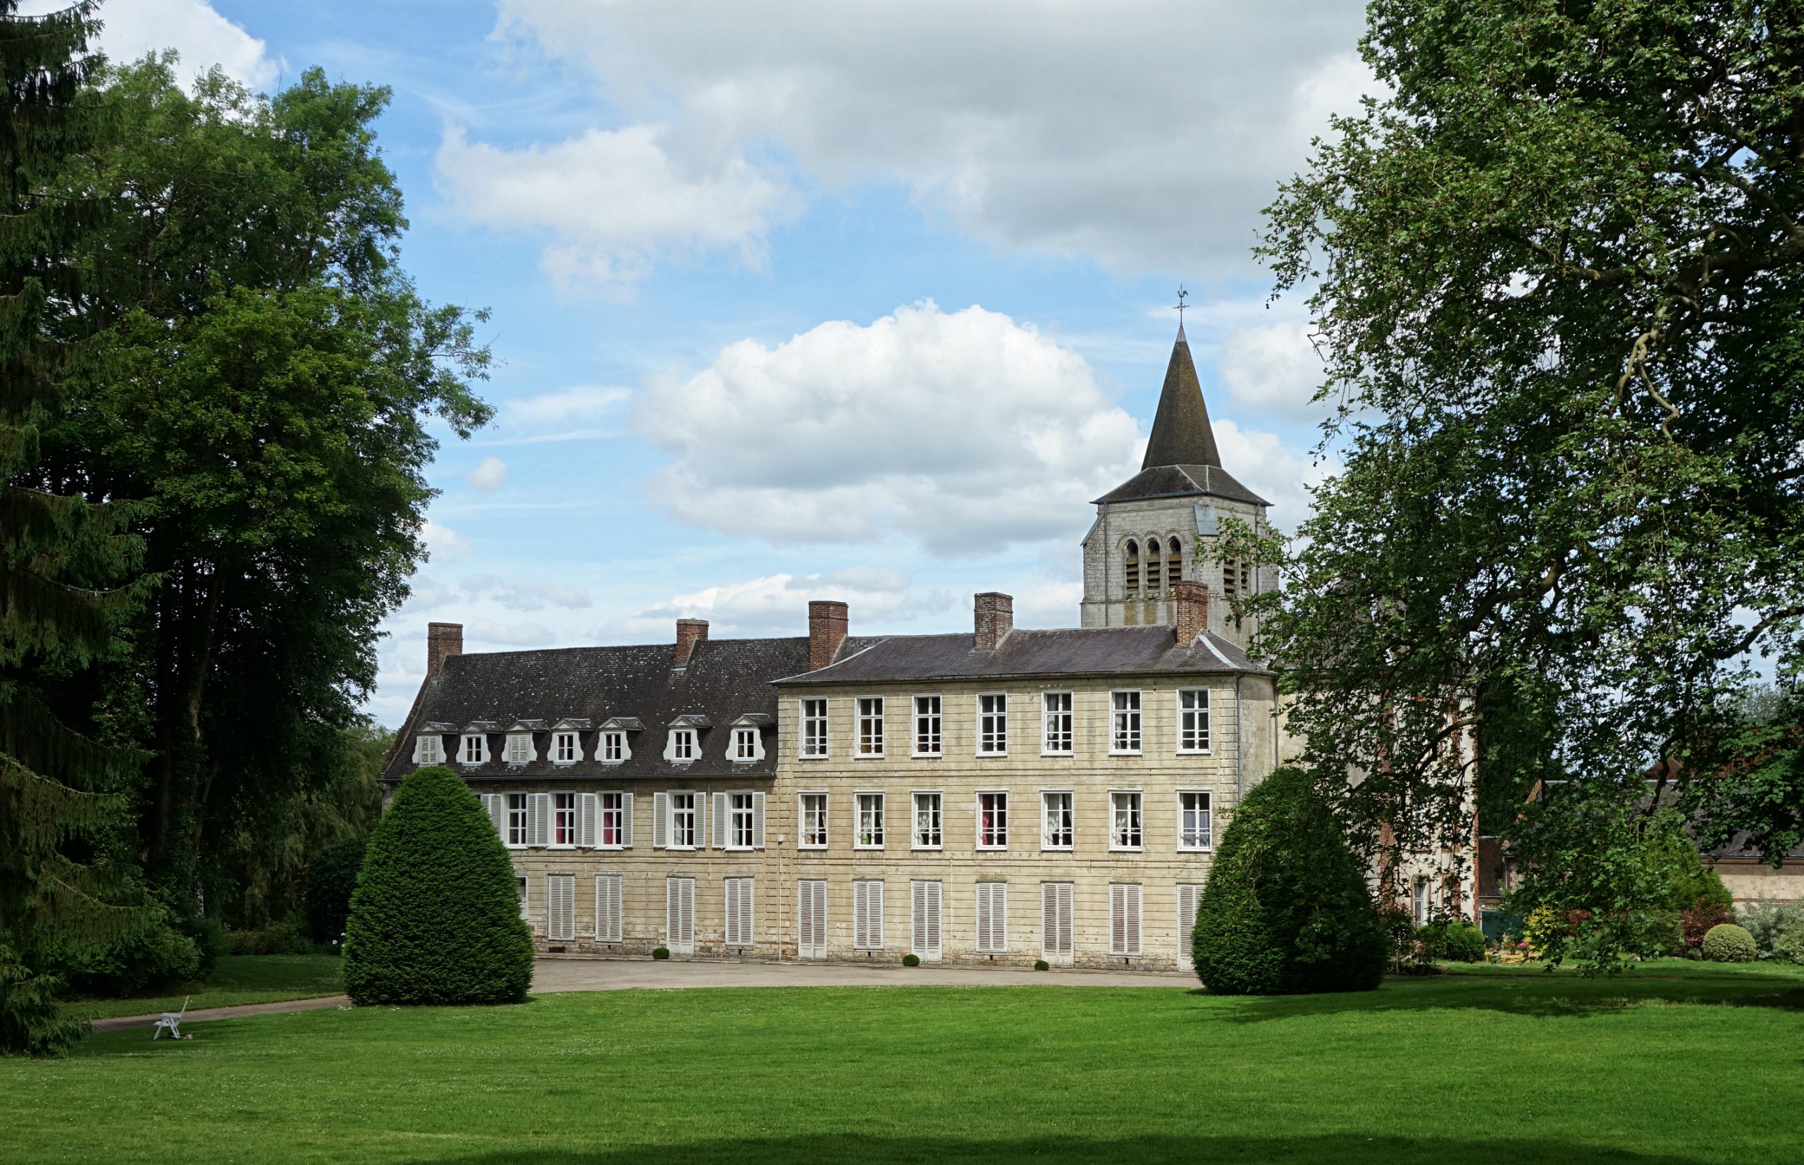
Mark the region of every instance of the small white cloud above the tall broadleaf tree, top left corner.
<instances>
[{"instance_id":1,"label":"small white cloud above the tall broadleaf tree, top left corner","mask_svg":"<svg viewBox=\"0 0 1804 1165\"><path fill-rule=\"evenodd\" d=\"M31 0L22 14L69 7L69 0ZM226 20L207 0L114 0L101 5L101 52L130 63L153 49L175 49L182 58L177 76L191 81L213 65L253 90L267 90L280 76L269 45L242 25Z\"/></svg>"}]
</instances>

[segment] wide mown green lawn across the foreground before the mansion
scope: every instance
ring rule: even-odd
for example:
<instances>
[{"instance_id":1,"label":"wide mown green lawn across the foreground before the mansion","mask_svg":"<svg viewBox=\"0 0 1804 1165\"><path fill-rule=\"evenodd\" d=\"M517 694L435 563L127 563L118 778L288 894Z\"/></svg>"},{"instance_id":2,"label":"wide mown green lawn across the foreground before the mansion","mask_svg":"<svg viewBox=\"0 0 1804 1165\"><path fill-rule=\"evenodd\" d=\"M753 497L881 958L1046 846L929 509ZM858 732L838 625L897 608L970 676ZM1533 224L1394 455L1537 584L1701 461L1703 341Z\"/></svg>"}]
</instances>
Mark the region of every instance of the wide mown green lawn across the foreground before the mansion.
<instances>
[{"instance_id":1,"label":"wide mown green lawn across the foreground before the mansion","mask_svg":"<svg viewBox=\"0 0 1804 1165\"><path fill-rule=\"evenodd\" d=\"M1804 976L595 992L0 1060L0 1160L1786 1163Z\"/></svg>"}]
</instances>

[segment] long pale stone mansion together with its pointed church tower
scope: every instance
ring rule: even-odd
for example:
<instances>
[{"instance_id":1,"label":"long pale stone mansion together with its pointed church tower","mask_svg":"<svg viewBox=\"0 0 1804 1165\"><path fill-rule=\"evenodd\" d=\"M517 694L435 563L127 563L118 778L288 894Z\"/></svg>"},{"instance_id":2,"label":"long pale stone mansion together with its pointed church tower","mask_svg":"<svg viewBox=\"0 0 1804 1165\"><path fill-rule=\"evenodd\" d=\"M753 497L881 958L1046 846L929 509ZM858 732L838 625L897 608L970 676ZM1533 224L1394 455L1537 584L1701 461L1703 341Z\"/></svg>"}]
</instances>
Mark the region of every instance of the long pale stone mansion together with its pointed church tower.
<instances>
[{"instance_id":1,"label":"long pale stone mansion together with its pointed church tower","mask_svg":"<svg viewBox=\"0 0 1804 1165\"><path fill-rule=\"evenodd\" d=\"M1180 967L1214 848L1279 761L1275 683L1198 554L1265 501L1221 469L1183 330L1142 471L1097 500L1081 628L464 655L384 768L465 775L547 952ZM797 611L797 617L801 611Z\"/></svg>"}]
</instances>

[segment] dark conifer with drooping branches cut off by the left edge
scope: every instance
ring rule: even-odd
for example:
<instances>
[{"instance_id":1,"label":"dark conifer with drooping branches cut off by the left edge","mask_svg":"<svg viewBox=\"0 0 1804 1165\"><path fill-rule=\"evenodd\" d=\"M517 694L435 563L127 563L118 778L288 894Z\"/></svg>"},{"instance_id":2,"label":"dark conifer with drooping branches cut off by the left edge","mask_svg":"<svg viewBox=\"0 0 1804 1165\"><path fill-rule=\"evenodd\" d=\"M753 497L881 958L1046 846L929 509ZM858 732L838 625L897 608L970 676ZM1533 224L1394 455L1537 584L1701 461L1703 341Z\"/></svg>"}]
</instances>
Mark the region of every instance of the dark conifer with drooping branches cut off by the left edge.
<instances>
[{"instance_id":1,"label":"dark conifer with drooping branches cut off by the left edge","mask_svg":"<svg viewBox=\"0 0 1804 1165\"><path fill-rule=\"evenodd\" d=\"M92 689L135 545L114 494L54 492L38 469L97 323L79 310L76 254L108 207L52 189L105 128L78 101L94 5L16 7L0 0L0 1051L47 1053L79 1035L56 1017L47 967L132 936L148 913L94 846L141 759L105 739Z\"/></svg>"}]
</instances>

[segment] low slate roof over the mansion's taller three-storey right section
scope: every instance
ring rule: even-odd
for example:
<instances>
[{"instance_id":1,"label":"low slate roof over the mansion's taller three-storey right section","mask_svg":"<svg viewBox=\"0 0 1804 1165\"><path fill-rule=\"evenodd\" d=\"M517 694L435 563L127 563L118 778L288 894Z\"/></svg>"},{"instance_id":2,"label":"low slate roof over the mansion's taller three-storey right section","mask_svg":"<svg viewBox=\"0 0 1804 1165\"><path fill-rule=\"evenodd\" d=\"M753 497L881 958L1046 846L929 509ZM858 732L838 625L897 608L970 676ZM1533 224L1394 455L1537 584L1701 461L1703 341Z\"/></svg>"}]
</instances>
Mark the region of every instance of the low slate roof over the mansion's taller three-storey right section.
<instances>
[{"instance_id":1,"label":"low slate roof over the mansion's taller three-storey right section","mask_svg":"<svg viewBox=\"0 0 1804 1165\"><path fill-rule=\"evenodd\" d=\"M893 683L911 680L1014 680L1037 676L1115 674L1268 674L1247 653L1207 633L1178 646L1169 626L1014 629L994 649L978 651L974 635L895 635L819 671L778 680L781 687L814 683Z\"/></svg>"}]
</instances>

